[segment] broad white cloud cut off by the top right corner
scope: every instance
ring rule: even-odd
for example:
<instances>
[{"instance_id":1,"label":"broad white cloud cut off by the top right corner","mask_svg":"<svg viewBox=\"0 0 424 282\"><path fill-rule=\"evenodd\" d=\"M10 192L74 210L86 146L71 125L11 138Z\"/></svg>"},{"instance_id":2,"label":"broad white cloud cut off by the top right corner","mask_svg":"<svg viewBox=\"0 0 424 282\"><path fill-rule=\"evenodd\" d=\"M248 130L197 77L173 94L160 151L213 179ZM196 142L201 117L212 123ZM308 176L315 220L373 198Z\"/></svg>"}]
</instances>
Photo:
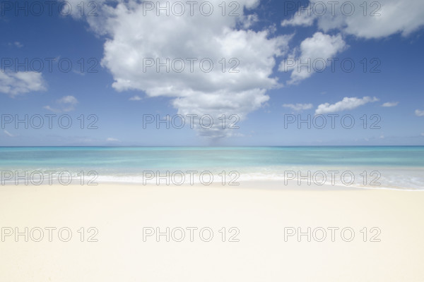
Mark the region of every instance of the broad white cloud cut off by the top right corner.
<instances>
[{"instance_id":1,"label":"broad white cloud cut off by the top right corner","mask_svg":"<svg viewBox=\"0 0 424 282\"><path fill-rule=\"evenodd\" d=\"M407 36L424 25L422 0L351 0L334 3L332 7L331 1L310 0L309 13L307 9L299 10L290 20L283 20L281 25L310 26L317 21L319 29L324 32L336 29L367 39L387 37L399 32ZM366 11L363 3L367 6ZM345 4L343 8L342 4ZM351 7L354 8L353 13Z\"/></svg>"}]
</instances>

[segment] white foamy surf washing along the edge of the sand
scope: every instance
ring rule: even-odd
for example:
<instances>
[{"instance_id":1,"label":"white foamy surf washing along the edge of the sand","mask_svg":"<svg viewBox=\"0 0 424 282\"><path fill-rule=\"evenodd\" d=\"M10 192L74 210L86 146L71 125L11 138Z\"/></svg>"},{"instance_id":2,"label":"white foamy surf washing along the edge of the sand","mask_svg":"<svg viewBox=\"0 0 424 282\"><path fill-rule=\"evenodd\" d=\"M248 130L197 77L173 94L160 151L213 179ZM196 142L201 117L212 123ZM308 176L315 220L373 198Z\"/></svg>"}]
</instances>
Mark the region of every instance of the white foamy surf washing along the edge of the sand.
<instances>
[{"instance_id":1,"label":"white foamy surf washing along the edge of the sand","mask_svg":"<svg viewBox=\"0 0 424 282\"><path fill-rule=\"evenodd\" d=\"M48 171L37 168L34 171ZM51 171L51 169L50 169ZM56 170L60 171L60 170ZM65 171L63 169L62 171ZM187 170L189 171L189 170ZM146 173L111 173L105 171L98 173L98 176L86 175L81 181L81 171L71 171L72 184L84 185L88 181L93 183L136 183L143 185L207 185L208 183L221 183L222 185L237 185L237 183L245 183L252 181L273 181L279 182L283 186L305 186L310 183L316 187L323 185L339 186L346 188L363 188L363 189L387 189L387 190L424 190L424 169L422 168L361 168L358 167L325 167L321 169L313 168L312 166L296 166L296 167L245 167L240 170L227 170L225 173L218 168L211 169L210 171L202 171L190 175L187 171L181 171L184 175L182 179L181 173L158 173L158 171ZM331 174L333 171L333 174ZM334 173L337 171L337 173ZM207 172L207 173L206 173ZM153 173L153 174L152 174ZM343 175L343 179L341 176ZM28 173L28 176L30 173ZM59 173L47 174L41 173L45 177L42 184L58 183ZM225 178L224 178L225 175ZM19 177L18 177L19 176ZM1 178L1 185L16 185L16 178L18 184L25 184L22 180L23 173L18 172L16 177L11 179ZM35 182L38 183L40 174L36 175ZM212 176L212 177L211 177ZM352 181L351 176L354 177ZM366 177L365 177L366 176ZM49 178L51 177L51 178ZM325 179L324 179L325 178ZM66 176L64 177L66 182ZM33 184L31 180L27 181L28 184Z\"/></svg>"}]
</instances>

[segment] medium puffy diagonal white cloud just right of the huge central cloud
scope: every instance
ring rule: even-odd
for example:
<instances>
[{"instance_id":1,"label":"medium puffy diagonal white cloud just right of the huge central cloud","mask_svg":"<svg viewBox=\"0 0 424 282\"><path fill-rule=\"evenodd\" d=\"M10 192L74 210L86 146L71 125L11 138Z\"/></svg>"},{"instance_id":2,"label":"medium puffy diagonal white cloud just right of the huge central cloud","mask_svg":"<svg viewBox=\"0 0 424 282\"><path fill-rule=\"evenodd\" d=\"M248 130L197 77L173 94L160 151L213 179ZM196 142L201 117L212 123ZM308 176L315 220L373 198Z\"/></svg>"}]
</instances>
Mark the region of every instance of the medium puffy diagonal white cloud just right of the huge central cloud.
<instances>
[{"instance_id":1,"label":"medium puffy diagonal white cloud just right of the huge central cloud","mask_svg":"<svg viewBox=\"0 0 424 282\"><path fill-rule=\"evenodd\" d=\"M300 80L309 78L312 73L324 70L329 63L328 59L333 58L345 48L346 43L341 35L331 36L316 32L312 37L308 37L300 43L300 56L295 58L295 54L293 54L292 58L282 61L278 71L292 71L288 83L298 83Z\"/></svg>"}]
</instances>

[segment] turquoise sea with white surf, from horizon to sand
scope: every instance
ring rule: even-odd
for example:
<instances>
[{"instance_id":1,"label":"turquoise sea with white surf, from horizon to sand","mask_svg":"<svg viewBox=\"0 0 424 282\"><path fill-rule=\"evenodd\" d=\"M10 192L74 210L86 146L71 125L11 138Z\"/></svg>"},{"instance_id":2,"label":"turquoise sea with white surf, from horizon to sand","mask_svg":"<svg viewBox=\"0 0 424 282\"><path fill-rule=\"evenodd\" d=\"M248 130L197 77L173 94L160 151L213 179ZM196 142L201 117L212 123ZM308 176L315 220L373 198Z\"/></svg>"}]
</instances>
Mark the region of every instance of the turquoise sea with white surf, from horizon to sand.
<instances>
[{"instance_id":1,"label":"turquoise sea with white surf, from horizon to sand","mask_svg":"<svg viewBox=\"0 0 424 282\"><path fill-rule=\"evenodd\" d=\"M274 180L424 190L424 147L0 147L0 171L1 185Z\"/></svg>"}]
</instances>

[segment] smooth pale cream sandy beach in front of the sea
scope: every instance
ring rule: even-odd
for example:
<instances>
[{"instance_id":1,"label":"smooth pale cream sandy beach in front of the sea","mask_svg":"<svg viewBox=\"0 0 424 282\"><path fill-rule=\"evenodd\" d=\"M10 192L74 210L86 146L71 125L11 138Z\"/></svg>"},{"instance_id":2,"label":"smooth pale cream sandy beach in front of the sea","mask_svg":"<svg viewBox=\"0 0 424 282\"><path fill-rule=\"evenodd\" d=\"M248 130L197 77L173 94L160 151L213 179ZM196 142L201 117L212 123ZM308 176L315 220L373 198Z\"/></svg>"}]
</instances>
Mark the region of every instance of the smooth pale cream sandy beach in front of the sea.
<instances>
[{"instance_id":1,"label":"smooth pale cream sandy beach in front of the sea","mask_svg":"<svg viewBox=\"0 0 424 282\"><path fill-rule=\"evenodd\" d=\"M0 278L424 281L423 202L420 191L269 183L2 186ZM28 227L28 242L25 235L16 242L16 227ZM298 228L308 227L310 242L308 235L299 240ZM156 231L164 234L156 238Z\"/></svg>"}]
</instances>

